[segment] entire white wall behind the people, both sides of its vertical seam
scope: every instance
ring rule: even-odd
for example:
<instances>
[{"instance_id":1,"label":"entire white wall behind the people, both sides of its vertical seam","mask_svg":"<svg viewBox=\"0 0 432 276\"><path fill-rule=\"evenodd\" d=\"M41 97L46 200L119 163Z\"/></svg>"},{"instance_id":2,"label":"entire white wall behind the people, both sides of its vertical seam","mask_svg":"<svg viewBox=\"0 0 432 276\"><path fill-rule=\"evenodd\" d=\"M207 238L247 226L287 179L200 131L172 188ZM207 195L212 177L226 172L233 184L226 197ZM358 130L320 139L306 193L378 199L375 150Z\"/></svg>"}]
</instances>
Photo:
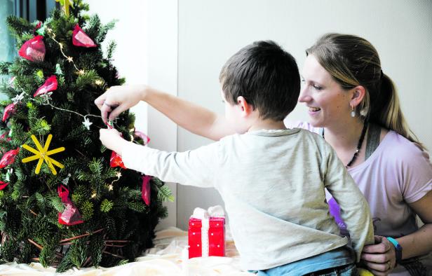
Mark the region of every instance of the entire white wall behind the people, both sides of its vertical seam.
<instances>
[{"instance_id":1,"label":"entire white wall behind the people, both sides of its vertical seam","mask_svg":"<svg viewBox=\"0 0 432 276\"><path fill-rule=\"evenodd\" d=\"M432 1L429 0L87 0L102 22L119 19L109 39L119 47L115 64L128 83L149 83L213 111L223 112L218 75L238 49L272 39L294 55L325 32L365 37L377 48L383 71L393 78L405 116L432 149ZM121 4L120 4L121 3ZM178 48L177 48L178 46ZM139 49L140 51L137 51ZM177 92L178 91L178 92ZM145 105L137 114L152 146L185 151L210 143L177 128ZM304 106L290 115L307 120ZM234 179L233 179L234 180ZM187 228L195 207L220 204L213 189L170 184L176 202L160 227ZM264 202L265 204L265 202Z\"/></svg>"}]
</instances>

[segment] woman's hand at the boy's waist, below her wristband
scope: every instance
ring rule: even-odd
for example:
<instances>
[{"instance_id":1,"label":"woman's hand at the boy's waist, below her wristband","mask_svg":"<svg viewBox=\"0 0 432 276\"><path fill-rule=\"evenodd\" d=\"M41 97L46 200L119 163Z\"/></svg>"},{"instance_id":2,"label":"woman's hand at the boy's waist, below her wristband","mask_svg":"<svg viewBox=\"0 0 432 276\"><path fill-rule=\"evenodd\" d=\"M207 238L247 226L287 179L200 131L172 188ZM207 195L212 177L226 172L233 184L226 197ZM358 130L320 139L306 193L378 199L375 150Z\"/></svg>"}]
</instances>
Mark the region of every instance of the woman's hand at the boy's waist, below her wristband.
<instances>
[{"instance_id":1,"label":"woman's hand at the boy's waist, below her wristband","mask_svg":"<svg viewBox=\"0 0 432 276\"><path fill-rule=\"evenodd\" d=\"M388 275L396 266L396 249L386 237L374 238L377 244L365 245L361 258L374 275Z\"/></svg>"}]
</instances>

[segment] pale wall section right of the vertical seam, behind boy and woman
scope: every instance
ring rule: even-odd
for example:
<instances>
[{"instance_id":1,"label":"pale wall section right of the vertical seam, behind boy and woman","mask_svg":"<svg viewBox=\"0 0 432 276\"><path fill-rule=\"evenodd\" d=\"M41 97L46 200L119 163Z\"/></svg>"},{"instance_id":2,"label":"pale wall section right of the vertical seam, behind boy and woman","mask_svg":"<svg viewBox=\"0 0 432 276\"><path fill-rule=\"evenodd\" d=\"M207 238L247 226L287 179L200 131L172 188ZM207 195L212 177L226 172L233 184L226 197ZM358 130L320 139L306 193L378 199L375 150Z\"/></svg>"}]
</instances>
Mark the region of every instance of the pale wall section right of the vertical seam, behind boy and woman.
<instances>
[{"instance_id":1,"label":"pale wall section right of the vertical seam, behind boy and woman","mask_svg":"<svg viewBox=\"0 0 432 276\"><path fill-rule=\"evenodd\" d=\"M357 34L377 48L383 71L398 86L410 126L432 149L432 1L179 0L178 8L180 97L222 113L217 77L224 62L241 47L272 39L302 68L304 50L321 34ZM307 120L301 104L290 116ZM179 129L179 151L209 142ZM179 185L177 226L187 228L194 207L220 202L215 190Z\"/></svg>"}]
</instances>

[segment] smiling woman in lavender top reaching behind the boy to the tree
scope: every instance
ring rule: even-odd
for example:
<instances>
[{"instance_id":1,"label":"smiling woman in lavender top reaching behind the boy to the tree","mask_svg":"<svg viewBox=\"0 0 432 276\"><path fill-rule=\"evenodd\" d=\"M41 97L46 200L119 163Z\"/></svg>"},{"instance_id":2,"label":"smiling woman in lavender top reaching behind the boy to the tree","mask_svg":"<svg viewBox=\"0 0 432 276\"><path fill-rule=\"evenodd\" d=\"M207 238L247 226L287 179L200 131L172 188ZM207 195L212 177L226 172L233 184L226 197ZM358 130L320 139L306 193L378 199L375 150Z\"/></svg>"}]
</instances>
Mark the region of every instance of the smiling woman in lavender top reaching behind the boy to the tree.
<instances>
[{"instance_id":1,"label":"smiling woman in lavender top reaching behind the boy to the tree","mask_svg":"<svg viewBox=\"0 0 432 276\"><path fill-rule=\"evenodd\" d=\"M310 123L302 127L323 135L370 204L377 244L363 249L365 265L375 275L426 275L432 269L425 256L432 251L432 165L410 136L377 51L357 36L326 34L306 53L299 102L309 106ZM234 133L223 116L145 86L112 87L95 103L102 118L111 112L112 120L140 100L195 134L218 140ZM343 228L337 204L330 198L329 204Z\"/></svg>"}]
</instances>

